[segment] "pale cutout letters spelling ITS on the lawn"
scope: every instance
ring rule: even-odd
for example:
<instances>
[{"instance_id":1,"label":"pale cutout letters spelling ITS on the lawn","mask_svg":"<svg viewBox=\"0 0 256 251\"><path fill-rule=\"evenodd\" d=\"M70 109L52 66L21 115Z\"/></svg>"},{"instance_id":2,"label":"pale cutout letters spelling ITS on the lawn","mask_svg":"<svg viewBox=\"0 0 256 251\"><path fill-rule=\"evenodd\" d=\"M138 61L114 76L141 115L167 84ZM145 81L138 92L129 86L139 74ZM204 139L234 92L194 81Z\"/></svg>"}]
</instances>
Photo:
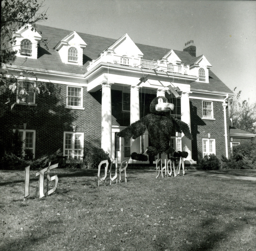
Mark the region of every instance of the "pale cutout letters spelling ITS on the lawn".
<instances>
[{"instance_id":1,"label":"pale cutout letters spelling ITS on the lawn","mask_svg":"<svg viewBox=\"0 0 256 251\"><path fill-rule=\"evenodd\" d=\"M47 192L45 193L45 196L52 194L56 190L58 186L58 181L59 181L58 176L54 175L50 177L50 171L56 167L58 167L58 164L51 165L51 162L50 162L48 167L45 167L44 169L36 172L36 176L39 176L39 199L44 197L44 173L46 171L47 171ZM24 199L29 195L29 174L30 174L30 166L27 166L25 168ZM49 182L53 180L55 180L55 186L52 189L50 189Z\"/></svg>"}]
</instances>

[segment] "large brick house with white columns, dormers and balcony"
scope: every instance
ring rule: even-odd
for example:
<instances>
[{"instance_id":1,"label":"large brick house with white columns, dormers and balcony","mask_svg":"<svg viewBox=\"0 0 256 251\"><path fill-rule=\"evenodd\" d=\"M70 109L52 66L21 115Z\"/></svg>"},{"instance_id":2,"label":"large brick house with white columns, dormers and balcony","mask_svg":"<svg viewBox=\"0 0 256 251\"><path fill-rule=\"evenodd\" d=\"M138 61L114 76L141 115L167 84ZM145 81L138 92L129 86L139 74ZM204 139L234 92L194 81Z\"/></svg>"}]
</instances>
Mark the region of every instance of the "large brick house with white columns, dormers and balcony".
<instances>
[{"instance_id":1,"label":"large brick house with white columns, dormers and balcony","mask_svg":"<svg viewBox=\"0 0 256 251\"><path fill-rule=\"evenodd\" d=\"M210 153L230 156L227 105L233 93L204 55L196 57L193 41L180 51L136 44L128 34L115 40L41 25L37 30L42 33L22 27L14 34L18 53L6 68L17 77L24 72L17 91L29 95L4 113L6 140L18 128L34 157L60 148L68 159L83 159L99 147L120 162L143 153L150 139L147 131L135 141L116 134L147 115L154 97L165 96L175 105L172 116L191 129L192 141L176 133L170 142L188 151L188 163ZM42 37L49 50L38 44ZM51 94L35 94L34 83Z\"/></svg>"}]
</instances>

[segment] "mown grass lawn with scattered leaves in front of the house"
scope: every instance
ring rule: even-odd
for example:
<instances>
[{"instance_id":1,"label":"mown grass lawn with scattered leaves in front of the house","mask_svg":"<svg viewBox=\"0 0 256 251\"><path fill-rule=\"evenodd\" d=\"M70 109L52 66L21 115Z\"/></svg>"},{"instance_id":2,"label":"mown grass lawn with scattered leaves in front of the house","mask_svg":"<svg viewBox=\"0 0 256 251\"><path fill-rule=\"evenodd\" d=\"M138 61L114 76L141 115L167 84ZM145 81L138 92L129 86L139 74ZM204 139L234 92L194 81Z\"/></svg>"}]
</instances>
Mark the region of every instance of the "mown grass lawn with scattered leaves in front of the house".
<instances>
[{"instance_id":1,"label":"mown grass lawn with scattered leaves in front of the house","mask_svg":"<svg viewBox=\"0 0 256 251\"><path fill-rule=\"evenodd\" d=\"M2 251L256 250L255 181L128 170L98 187L96 170L58 169L39 200L35 172L23 201L24 171L0 171Z\"/></svg>"}]
</instances>

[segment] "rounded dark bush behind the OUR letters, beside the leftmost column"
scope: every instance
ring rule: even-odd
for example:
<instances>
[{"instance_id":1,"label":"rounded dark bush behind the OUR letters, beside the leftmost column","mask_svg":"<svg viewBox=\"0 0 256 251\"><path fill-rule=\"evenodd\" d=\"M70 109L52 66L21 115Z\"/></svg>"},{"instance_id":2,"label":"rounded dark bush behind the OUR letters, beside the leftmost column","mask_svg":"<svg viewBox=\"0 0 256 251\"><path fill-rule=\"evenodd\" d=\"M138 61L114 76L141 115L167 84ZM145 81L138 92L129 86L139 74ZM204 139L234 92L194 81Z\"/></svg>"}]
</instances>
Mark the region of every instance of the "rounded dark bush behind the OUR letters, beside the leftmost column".
<instances>
[{"instance_id":1,"label":"rounded dark bush behind the OUR letters, beside the leftmost column","mask_svg":"<svg viewBox=\"0 0 256 251\"><path fill-rule=\"evenodd\" d=\"M105 152L102 148L94 147L91 151L85 156L85 165L89 169L98 168L102 160L108 160L110 164L109 154Z\"/></svg>"}]
</instances>

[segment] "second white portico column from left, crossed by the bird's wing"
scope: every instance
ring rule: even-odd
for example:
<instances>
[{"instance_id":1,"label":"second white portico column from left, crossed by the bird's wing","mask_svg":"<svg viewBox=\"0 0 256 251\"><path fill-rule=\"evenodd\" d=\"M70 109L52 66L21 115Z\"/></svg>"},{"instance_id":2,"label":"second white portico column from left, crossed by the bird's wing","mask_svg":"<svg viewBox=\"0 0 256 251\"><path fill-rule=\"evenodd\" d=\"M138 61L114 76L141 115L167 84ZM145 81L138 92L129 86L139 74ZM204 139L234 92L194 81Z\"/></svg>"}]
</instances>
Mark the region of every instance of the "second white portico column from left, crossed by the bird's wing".
<instances>
[{"instance_id":1,"label":"second white portico column from left, crossed by the bird's wing","mask_svg":"<svg viewBox=\"0 0 256 251\"><path fill-rule=\"evenodd\" d=\"M140 87L131 86L130 124L140 120ZM140 153L140 137L131 139L131 153Z\"/></svg>"}]
</instances>

